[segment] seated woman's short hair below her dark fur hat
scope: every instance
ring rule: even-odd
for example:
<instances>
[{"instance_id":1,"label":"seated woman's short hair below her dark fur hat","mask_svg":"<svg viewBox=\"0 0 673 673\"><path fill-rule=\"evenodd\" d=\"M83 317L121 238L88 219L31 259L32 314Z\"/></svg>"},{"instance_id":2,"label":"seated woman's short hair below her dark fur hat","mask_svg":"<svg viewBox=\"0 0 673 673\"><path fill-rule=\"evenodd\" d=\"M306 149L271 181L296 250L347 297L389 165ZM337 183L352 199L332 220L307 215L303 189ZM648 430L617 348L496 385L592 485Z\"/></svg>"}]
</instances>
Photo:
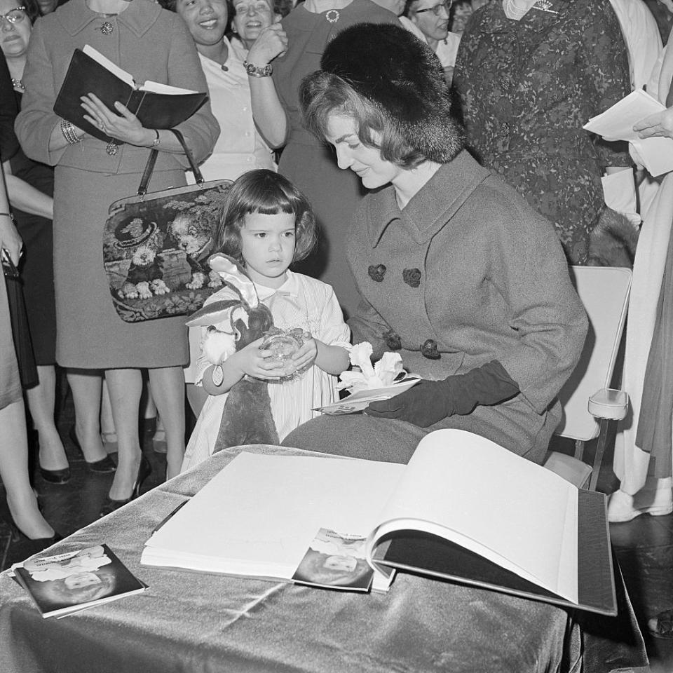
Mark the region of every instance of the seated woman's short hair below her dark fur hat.
<instances>
[{"instance_id":1,"label":"seated woman's short hair below her dark fur hat","mask_svg":"<svg viewBox=\"0 0 673 673\"><path fill-rule=\"evenodd\" d=\"M344 115L355 121L360 142L378 149L386 161L405 169L426 161L427 157L405 140L390 115L338 75L318 70L306 76L299 88L299 101L304 125L320 140L327 137L329 117Z\"/></svg>"}]
</instances>

